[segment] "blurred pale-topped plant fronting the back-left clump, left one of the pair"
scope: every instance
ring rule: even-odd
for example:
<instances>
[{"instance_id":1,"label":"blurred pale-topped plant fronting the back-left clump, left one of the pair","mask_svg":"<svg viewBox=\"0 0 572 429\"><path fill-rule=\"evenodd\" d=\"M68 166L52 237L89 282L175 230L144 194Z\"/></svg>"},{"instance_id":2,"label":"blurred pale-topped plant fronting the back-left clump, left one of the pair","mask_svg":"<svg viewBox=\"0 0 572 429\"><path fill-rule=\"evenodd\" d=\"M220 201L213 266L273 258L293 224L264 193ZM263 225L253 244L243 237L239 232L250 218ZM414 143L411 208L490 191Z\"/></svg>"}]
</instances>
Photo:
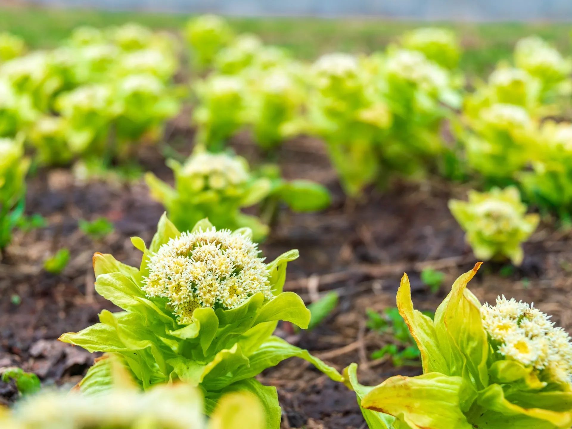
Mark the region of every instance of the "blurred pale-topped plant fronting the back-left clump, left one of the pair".
<instances>
[{"instance_id":1,"label":"blurred pale-topped plant fronting the back-left clump, left one of the pair","mask_svg":"<svg viewBox=\"0 0 572 429\"><path fill-rule=\"evenodd\" d=\"M103 156L109 128L121 112L121 105L110 85L80 86L62 94L56 108L67 122L67 142L73 153Z\"/></svg>"}]
</instances>

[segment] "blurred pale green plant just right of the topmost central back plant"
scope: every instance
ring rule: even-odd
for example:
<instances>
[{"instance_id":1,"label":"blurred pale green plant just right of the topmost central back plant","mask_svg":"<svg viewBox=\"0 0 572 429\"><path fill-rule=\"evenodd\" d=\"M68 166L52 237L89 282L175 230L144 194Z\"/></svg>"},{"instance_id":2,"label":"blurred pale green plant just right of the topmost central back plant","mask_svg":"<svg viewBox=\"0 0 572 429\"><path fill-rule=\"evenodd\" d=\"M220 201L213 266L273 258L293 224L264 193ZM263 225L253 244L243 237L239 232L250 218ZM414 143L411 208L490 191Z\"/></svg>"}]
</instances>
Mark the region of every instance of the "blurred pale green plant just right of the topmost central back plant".
<instances>
[{"instance_id":1,"label":"blurred pale green plant just right of the topmost central back plant","mask_svg":"<svg viewBox=\"0 0 572 429\"><path fill-rule=\"evenodd\" d=\"M235 37L215 57L215 69L222 74L238 74L255 62L257 54L263 49L258 36L243 33Z\"/></svg>"}]
</instances>

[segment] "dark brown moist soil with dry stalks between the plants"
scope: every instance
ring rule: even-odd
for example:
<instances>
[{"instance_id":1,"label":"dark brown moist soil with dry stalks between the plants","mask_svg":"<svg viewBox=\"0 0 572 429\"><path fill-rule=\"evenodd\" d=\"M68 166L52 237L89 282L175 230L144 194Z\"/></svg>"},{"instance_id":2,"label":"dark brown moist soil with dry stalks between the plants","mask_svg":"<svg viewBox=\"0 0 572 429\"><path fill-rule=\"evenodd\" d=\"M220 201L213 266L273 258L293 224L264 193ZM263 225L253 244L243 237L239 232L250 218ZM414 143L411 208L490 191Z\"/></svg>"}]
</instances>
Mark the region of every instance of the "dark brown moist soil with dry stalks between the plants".
<instances>
[{"instance_id":1,"label":"dark brown moist soil with dry stalks between the plants","mask_svg":"<svg viewBox=\"0 0 572 429\"><path fill-rule=\"evenodd\" d=\"M180 128L174 126L169 141L184 156L190 151L192 133ZM262 159L248 136L235 138L233 147L253 162ZM314 214L281 210L271 236L261 247L268 260L292 248L300 250L300 259L288 264L285 289L298 292L307 303L316 293L335 289L340 294L335 312L313 331L296 333L283 323L277 335L309 349L340 371L352 362L359 363L363 384L378 384L396 374L419 374L419 366L394 368L390 360L370 359L372 352L394 340L366 327L366 309L382 311L395 306L400 276L407 271L416 307L434 310L456 276L472 268L475 259L447 209L448 199L463 198L467 187L438 179L398 183L384 193L370 189L367 202L353 204L344 199L321 142L297 138L273 157L285 177L309 178L327 185L333 204ZM163 159L156 149L140 154L145 169L170 181ZM26 210L46 217L48 226L16 232L3 254L0 367L19 366L35 372L45 385L73 386L93 363L93 356L59 343L57 337L96 323L104 308L114 309L94 293L93 253L112 253L118 260L138 265L141 253L129 237L140 236L149 243L163 209L151 200L141 182L81 184L69 170L51 170L29 179ZM115 231L93 241L78 229L78 220L98 216L111 220ZM570 240L569 233L543 224L525 244L522 267L506 273L501 264L487 263L470 288L483 302L494 301L501 293L534 301L570 330ZM62 247L69 248L72 255L62 274L43 271L43 259ZM446 273L445 285L436 294L420 280L424 267ZM278 389L283 428L366 427L353 392L299 359L265 371L260 380ZM14 386L0 382L0 403L16 398Z\"/></svg>"}]
</instances>

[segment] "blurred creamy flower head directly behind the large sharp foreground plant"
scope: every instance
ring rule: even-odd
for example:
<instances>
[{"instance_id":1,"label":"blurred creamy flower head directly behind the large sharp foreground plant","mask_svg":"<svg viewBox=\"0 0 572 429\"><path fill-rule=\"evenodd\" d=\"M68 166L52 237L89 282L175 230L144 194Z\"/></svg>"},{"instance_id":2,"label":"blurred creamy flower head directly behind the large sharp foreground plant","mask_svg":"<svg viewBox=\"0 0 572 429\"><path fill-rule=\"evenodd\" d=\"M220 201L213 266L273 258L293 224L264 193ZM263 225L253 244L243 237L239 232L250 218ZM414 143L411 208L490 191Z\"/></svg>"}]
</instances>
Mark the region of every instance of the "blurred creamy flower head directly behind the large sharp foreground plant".
<instances>
[{"instance_id":1,"label":"blurred creamy flower head directly behind the large sharp foreground plant","mask_svg":"<svg viewBox=\"0 0 572 429\"><path fill-rule=\"evenodd\" d=\"M240 186L248 181L248 171L239 157L226 154L202 152L193 154L183 166L182 175L189 178L190 187L200 192L210 189L225 189Z\"/></svg>"}]
</instances>

